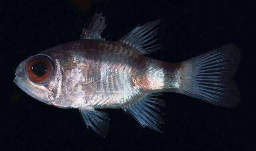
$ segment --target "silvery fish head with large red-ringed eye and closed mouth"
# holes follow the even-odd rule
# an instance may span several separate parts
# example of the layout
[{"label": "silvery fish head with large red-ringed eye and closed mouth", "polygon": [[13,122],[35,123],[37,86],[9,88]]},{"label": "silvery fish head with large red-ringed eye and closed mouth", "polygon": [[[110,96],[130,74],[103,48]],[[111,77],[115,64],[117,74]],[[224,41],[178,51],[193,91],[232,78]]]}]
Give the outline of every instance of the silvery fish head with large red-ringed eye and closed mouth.
[{"label": "silvery fish head with large red-ringed eye and closed mouth", "polygon": [[16,69],[14,83],[31,97],[56,105],[61,94],[62,75],[58,59],[48,54],[36,54],[24,60]]}]

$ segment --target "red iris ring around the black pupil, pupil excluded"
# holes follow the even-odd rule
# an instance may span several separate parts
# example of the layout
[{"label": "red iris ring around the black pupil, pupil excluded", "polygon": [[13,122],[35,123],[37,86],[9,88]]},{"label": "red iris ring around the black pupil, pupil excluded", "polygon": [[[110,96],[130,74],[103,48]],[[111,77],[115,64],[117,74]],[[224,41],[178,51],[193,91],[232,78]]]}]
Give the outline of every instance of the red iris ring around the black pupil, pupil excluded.
[{"label": "red iris ring around the black pupil, pupil excluded", "polygon": [[[37,62],[42,62],[46,66],[46,73],[43,76],[37,76],[32,71],[32,67]],[[53,76],[54,65],[52,63],[52,60],[50,60],[50,58],[48,58],[48,56],[37,55],[28,61],[27,66],[26,66],[26,71],[27,71],[26,73],[31,81],[33,81],[34,83],[37,83],[37,84],[44,84],[44,83],[47,83],[48,81],[50,81],[51,77]]]}]

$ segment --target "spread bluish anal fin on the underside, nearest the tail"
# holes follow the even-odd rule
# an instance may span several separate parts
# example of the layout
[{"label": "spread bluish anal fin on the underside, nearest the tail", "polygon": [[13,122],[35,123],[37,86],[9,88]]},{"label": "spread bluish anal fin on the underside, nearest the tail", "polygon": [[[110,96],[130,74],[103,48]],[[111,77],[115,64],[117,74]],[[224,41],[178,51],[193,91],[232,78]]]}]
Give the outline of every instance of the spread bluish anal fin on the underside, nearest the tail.
[{"label": "spread bluish anal fin on the underside, nearest the tail", "polygon": [[162,133],[159,129],[160,124],[164,124],[162,120],[163,112],[156,105],[164,106],[164,101],[154,98],[155,95],[147,95],[140,101],[124,107],[124,112],[128,112],[143,127],[149,127],[155,131]]}]

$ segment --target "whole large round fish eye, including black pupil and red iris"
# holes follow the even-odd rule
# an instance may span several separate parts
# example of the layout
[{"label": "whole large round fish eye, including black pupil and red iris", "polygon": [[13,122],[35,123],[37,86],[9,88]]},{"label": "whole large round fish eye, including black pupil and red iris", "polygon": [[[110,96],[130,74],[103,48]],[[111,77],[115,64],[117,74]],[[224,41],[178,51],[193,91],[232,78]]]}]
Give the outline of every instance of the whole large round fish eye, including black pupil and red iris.
[{"label": "whole large round fish eye, including black pupil and red iris", "polygon": [[26,64],[26,74],[34,83],[47,83],[54,76],[54,64],[48,56],[34,56]]}]

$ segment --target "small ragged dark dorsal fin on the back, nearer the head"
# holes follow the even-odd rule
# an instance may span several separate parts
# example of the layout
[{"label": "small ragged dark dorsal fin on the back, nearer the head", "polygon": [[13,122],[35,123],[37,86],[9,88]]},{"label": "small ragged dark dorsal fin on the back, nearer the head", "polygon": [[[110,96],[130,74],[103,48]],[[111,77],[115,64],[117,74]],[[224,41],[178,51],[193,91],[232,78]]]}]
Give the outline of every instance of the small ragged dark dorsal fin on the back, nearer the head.
[{"label": "small ragged dark dorsal fin on the back, nearer the head", "polygon": [[102,31],[107,26],[105,24],[105,17],[102,17],[101,14],[102,14],[102,12],[100,14],[95,13],[88,28],[86,29],[84,26],[84,29],[81,34],[81,39],[105,40],[105,38],[101,38],[101,36],[100,36]]}]

